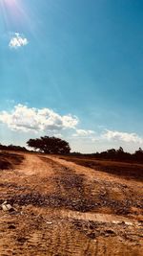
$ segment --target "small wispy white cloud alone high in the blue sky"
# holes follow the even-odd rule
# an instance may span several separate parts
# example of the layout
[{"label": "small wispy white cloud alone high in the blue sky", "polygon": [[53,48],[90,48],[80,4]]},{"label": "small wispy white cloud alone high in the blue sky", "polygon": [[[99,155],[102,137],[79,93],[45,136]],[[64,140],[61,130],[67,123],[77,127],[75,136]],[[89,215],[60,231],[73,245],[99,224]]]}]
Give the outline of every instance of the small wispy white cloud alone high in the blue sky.
[{"label": "small wispy white cloud alone high in the blue sky", "polygon": [[15,33],[10,38],[9,46],[10,48],[17,49],[22,46],[26,46],[29,43],[28,39],[24,37],[23,35],[20,35],[19,33]]}]

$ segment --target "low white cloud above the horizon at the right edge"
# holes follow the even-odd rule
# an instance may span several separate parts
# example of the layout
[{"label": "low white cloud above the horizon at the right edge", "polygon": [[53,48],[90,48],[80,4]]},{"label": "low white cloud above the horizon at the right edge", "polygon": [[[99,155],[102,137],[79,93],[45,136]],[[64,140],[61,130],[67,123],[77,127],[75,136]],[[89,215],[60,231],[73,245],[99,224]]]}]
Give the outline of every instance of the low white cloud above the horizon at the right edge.
[{"label": "low white cloud above the horizon at the right edge", "polygon": [[103,139],[113,140],[113,141],[123,141],[127,143],[143,143],[143,138],[139,137],[136,133],[120,132],[117,130],[106,131],[101,136]]}]

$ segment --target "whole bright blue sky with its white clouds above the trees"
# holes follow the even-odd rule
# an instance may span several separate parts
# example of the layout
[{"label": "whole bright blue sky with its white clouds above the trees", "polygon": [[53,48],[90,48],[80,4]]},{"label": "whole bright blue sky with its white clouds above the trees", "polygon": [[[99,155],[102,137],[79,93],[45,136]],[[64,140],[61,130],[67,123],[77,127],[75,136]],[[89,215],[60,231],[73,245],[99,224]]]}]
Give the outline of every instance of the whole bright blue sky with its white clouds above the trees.
[{"label": "whole bright blue sky with its white clouds above the trees", "polygon": [[0,143],[143,147],[143,2],[0,0]]}]

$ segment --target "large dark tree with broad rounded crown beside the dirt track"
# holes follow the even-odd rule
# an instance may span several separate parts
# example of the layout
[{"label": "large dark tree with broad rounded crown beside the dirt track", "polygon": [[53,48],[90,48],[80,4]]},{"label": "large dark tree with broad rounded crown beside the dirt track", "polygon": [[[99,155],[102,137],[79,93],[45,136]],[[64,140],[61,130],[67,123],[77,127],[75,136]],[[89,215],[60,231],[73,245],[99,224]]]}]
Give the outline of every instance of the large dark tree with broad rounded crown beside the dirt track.
[{"label": "large dark tree with broad rounded crown beside the dirt track", "polygon": [[71,148],[69,143],[65,140],[55,137],[40,137],[37,139],[30,139],[27,142],[28,146],[34,150],[43,151],[45,153],[70,153]]}]

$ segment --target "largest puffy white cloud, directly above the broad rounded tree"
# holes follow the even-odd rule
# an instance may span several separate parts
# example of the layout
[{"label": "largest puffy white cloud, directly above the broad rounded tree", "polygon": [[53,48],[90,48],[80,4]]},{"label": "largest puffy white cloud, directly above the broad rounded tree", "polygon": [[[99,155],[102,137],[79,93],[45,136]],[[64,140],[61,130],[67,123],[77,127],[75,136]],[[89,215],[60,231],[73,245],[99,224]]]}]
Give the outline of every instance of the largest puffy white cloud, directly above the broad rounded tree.
[{"label": "largest puffy white cloud, directly above the broad rounded tree", "polygon": [[78,118],[72,115],[59,115],[50,108],[30,108],[15,105],[10,112],[0,112],[0,122],[10,129],[22,131],[51,131],[75,128]]}]

